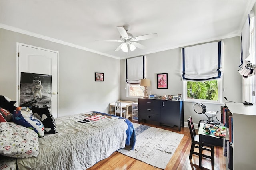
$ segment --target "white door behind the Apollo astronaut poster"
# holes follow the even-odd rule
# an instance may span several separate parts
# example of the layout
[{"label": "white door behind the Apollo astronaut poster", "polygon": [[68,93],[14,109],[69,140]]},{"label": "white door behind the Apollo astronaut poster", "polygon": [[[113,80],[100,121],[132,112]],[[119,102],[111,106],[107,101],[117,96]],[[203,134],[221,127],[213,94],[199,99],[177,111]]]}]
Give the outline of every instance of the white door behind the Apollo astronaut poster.
[{"label": "white door behind the Apollo astronaut poster", "polygon": [[[18,44],[18,83],[20,73],[37,73],[52,75],[51,112],[54,118],[58,117],[58,52],[29,45]],[[20,89],[17,103],[20,105]]]}]

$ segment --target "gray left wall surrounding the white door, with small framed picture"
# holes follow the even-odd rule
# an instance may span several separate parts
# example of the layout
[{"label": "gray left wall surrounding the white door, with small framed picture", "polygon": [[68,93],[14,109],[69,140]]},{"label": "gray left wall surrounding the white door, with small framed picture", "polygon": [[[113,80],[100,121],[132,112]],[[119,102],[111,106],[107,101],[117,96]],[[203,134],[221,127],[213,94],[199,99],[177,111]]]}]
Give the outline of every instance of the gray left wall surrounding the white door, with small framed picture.
[{"label": "gray left wall surrounding the white door, with small framed picture", "polygon": [[[60,116],[100,111],[120,98],[120,60],[74,47],[0,29],[0,95],[16,100],[16,43],[59,51]],[[94,72],[104,73],[104,82],[94,81]]]}]

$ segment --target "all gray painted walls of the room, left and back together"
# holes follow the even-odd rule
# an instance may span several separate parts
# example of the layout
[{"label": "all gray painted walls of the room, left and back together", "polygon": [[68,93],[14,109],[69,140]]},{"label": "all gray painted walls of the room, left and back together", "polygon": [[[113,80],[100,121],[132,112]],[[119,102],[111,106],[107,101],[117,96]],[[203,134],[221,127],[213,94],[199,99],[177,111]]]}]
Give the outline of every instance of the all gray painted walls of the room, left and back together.
[{"label": "all gray painted walls of the room, left and back together", "polygon": [[[24,43],[59,51],[59,113],[60,116],[100,111],[108,113],[109,103],[126,98],[125,59],[105,57],[74,47],[50,42],[40,38],[0,29],[0,94],[16,99],[16,43]],[[224,39],[223,73],[224,91],[232,101],[242,101],[242,77],[238,73],[240,37]],[[94,72],[104,73],[104,82],[94,81]],[[156,74],[168,73],[168,89],[157,89]],[[182,93],[180,48],[146,55],[146,78],[151,80],[148,92],[158,95]],[[225,102],[225,99],[223,98]],[[221,104],[223,105],[223,104]],[[184,122],[189,116],[194,123],[206,119],[193,109],[194,103],[184,102]],[[208,111],[220,110],[219,104],[206,103]]]}]

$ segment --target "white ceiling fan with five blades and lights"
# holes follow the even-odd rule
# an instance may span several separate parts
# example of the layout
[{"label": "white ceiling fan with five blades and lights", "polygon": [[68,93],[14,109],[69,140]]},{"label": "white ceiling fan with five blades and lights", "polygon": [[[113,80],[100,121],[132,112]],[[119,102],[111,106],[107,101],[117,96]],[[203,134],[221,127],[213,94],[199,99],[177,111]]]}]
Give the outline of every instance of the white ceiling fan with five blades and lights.
[{"label": "white ceiling fan with five blades and lights", "polygon": [[144,45],[137,43],[136,41],[146,40],[146,39],[154,38],[157,36],[156,33],[153,33],[153,34],[146,34],[143,36],[133,37],[132,34],[128,33],[130,26],[117,27],[117,29],[121,35],[120,40],[96,40],[96,41],[123,42],[115,49],[115,51],[119,51],[120,49],[122,49],[123,52],[127,53],[129,49],[130,51],[134,51],[136,47],[140,49],[145,48]]}]

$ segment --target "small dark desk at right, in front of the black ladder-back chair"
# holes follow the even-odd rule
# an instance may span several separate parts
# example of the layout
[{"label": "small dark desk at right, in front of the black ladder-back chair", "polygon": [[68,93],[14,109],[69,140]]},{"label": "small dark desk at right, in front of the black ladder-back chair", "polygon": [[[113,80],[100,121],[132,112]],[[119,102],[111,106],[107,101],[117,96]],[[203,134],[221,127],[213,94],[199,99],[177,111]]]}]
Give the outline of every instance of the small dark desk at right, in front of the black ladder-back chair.
[{"label": "small dark desk at right, in front of the black ladder-back chair", "polygon": [[[214,134],[207,134],[205,132],[205,125],[211,126],[207,123],[200,123],[200,127],[198,130],[199,135],[199,168],[202,168],[202,142],[207,144],[212,144],[215,146],[223,146],[223,137],[215,136]],[[212,125],[215,126],[215,125]],[[220,125],[219,125],[220,126]],[[220,126],[222,128],[222,126]]]}]

